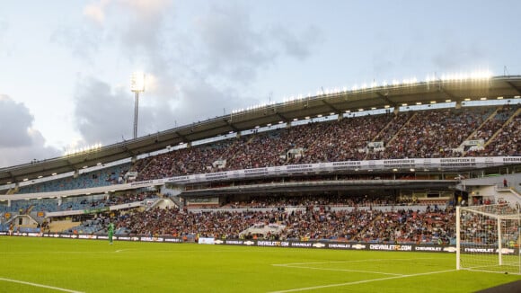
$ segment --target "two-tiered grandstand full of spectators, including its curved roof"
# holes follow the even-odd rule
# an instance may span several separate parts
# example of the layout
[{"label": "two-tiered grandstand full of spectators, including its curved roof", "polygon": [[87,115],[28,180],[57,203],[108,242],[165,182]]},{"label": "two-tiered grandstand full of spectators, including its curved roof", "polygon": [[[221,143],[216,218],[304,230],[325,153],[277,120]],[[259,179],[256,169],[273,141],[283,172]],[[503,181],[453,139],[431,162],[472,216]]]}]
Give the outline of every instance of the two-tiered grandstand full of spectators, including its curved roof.
[{"label": "two-tiered grandstand full of spectators, including its curved roof", "polygon": [[0,232],[455,244],[455,206],[521,206],[520,95],[519,75],[321,91],[6,167]]}]

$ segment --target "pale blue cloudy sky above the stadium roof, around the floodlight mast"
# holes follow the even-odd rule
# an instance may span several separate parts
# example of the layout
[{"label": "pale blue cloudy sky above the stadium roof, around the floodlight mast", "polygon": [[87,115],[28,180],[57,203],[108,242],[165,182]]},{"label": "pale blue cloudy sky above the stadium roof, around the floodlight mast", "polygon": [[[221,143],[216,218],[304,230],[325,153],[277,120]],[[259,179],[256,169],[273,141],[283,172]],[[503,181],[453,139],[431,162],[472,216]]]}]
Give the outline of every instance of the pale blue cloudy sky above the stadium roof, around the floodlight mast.
[{"label": "pale blue cloudy sky above the stadium roof, around the floodlight mast", "polygon": [[0,3],[0,168],[324,88],[521,75],[521,2]]}]

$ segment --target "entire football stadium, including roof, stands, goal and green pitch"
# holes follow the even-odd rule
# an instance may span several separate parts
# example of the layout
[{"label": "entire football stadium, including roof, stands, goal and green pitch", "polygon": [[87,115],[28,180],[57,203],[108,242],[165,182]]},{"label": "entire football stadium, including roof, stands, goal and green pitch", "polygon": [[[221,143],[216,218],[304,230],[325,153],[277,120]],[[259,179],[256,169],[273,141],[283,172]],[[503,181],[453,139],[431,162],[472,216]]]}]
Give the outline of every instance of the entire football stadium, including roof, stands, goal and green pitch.
[{"label": "entire football stadium, including roof, stands, goal and green pitch", "polygon": [[[40,247],[70,255],[52,270],[84,263],[68,283],[17,264],[13,290],[169,290],[155,271],[168,262],[187,291],[477,291],[519,280],[520,194],[521,76],[444,75],[322,90],[0,169],[0,241],[12,262]],[[151,273],[118,274],[119,287],[77,276],[146,259]],[[268,269],[244,268],[257,265]],[[221,266],[240,281],[208,272]]]}]

